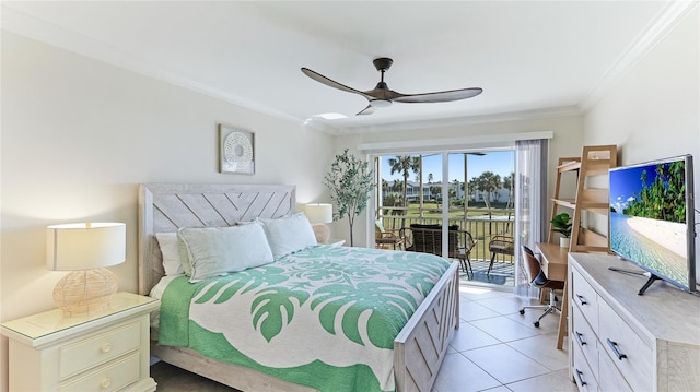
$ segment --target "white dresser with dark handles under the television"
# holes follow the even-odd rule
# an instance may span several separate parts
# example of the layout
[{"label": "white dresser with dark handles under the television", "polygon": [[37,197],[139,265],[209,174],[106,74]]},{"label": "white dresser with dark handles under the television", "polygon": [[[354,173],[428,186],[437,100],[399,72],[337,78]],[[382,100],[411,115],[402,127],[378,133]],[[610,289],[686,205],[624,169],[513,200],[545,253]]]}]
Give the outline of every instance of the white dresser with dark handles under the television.
[{"label": "white dresser with dark handles under the television", "polygon": [[569,253],[569,355],[581,391],[700,391],[700,297],[614,256]]}]

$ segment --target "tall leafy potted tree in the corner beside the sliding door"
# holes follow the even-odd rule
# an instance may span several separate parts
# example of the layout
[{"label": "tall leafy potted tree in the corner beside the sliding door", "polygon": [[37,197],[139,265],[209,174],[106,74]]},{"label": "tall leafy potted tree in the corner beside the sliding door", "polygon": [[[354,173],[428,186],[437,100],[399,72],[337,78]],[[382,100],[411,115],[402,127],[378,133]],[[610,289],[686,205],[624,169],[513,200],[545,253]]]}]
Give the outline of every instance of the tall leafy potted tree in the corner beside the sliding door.
[{"label": "tall leafy potted tree in the corner beside the sliding door", "polygon": [[350,246],[353,246],[352,226],[354,217],[368,206],[370,192],[376,186],[374,170],[368,170],[369,162],[348,154],[336,155],[330,170],[324,177],[324,186],[328,188],[330,200],[335,204],[334,221],[348,217],[350,224]]}]

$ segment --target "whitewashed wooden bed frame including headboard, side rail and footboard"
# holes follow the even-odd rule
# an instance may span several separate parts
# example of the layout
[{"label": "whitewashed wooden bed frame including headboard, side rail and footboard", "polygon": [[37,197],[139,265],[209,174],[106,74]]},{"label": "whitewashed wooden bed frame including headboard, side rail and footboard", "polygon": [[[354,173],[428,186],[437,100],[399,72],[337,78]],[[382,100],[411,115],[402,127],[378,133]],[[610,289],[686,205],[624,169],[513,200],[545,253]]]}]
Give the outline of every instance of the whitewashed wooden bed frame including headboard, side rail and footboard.
[{"label": "whitewashed wooden bed frame including headboard, side rail and footboard", "polygon": [[[148,295],[164,274],[156,233],[176,231],[185,226],[231,226],[238,221],[276,218],[295,211],[294,186],[141,185],[139,293]],[[458,263],[452,263],[394,341],[397,391],[431,391],[458,328],[459,271]],[[151,343],[151,355],[161,360],[242,391],[313,391],[253,369],[207,358],[192,349]]]}]

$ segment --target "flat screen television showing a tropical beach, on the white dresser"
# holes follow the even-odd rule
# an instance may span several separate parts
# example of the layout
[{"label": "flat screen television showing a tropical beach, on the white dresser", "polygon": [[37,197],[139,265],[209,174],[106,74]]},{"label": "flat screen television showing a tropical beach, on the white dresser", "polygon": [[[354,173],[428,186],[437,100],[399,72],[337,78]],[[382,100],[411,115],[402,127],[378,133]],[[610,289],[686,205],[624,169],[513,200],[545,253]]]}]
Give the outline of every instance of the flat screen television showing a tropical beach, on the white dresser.
[{"label": "flat screen television showing a tropical beach, on the white dresser", "polygon": [[656,280],[696,292],[692,156],[611,168],[610,250]]}]

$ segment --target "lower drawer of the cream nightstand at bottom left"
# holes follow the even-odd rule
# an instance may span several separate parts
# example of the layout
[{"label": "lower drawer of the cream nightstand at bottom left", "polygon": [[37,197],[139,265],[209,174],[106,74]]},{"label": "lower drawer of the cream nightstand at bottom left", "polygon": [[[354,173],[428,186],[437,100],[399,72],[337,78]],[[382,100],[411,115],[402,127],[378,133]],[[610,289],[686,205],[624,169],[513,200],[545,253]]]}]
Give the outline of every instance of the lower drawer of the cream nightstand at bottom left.
[{"label": "lower drawer of the cream nightstand at bottom left", "polygon": [[96,371],[80,376],[74,381],[61,384],[61,392],[118,391],[141,378],[139,354],[109,364]]}]

